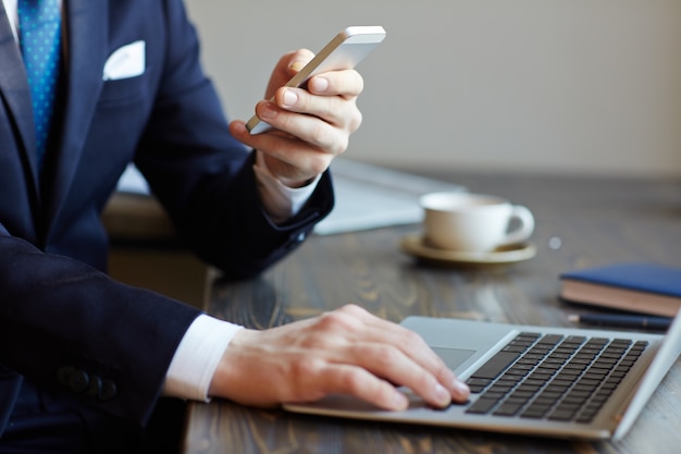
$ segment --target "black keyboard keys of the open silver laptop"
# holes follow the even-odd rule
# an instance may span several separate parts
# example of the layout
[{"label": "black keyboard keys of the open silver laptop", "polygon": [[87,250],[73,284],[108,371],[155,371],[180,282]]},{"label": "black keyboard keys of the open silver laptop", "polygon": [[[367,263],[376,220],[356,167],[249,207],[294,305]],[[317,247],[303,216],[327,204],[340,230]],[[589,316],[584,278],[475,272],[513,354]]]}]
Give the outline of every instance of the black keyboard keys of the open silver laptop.
[{"label": "black keyboard keys of the open silver laptop", "polygon": [[467,380],[481,395],[466,413],[590,422],[646,346],[522,332]]}]

